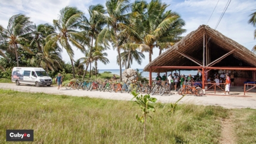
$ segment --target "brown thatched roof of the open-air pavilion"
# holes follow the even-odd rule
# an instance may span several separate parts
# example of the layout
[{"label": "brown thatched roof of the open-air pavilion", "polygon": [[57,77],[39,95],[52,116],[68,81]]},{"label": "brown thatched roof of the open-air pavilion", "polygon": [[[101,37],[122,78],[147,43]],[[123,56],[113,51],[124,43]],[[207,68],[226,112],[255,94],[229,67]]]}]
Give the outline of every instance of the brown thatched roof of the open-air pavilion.
[{"label": "brown thatched roof of the open-air pavilion", "polygon": [[[183,37],[183,39],[174,44],[173,47],[148,63],[143,71],[149,71],[149,67],[151,66],[199,66],[184,55],[193,57],[193,59],[198,62],[202,62],[204,34],[205,43],[208,41],[207,47],[209,52],[209,59],[205,62],[206,64],[213,62],[233,50],[231,55],[219,60],[212,66],[238,68],[242,65],[243,68],[256,68],[256,55],[254,53],[236,41],[224,36],[217,30],[210,28],[208,25],[200,25],[197,30]],[[173,70],[174,69],[153,69],[152,72]]]}]

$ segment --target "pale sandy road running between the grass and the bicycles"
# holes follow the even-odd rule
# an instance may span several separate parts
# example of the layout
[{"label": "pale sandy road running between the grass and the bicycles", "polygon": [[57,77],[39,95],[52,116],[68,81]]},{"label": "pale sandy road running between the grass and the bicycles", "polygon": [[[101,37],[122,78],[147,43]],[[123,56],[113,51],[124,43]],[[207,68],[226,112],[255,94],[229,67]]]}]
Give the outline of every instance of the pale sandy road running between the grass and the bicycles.
[{"label": "pale sandy road running between the grass and the bicycles", "polygon": [[[35,85],[15,85],[0,83],[2,89],[13,89],[23,92],[44,92],[47,94],[70,95],[77,97],[95,97],[112,100],[131,100],[133,95],[120,92],[100,92],[100,91],[83,91],[82,89],[66,89],[63,87],[58,91],[57,87],[35,87]],[[159,103],[175,103],[181,95],[172,91],[169,95],[151,95],[157,98]],[[203,95],[196,97],[194,95],[186,95],[179,103],[193,103],[197,105],[220,105],[225,108],[253,108],[256,109],[256,94],[253,96],[232,96],[232,95]]]}]

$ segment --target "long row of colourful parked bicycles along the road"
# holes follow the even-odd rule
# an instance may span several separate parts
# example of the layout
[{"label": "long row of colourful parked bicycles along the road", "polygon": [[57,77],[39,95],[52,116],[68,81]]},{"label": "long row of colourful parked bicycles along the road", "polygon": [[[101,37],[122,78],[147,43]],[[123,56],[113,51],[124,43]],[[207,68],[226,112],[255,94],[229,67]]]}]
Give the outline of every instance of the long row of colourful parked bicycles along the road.
[{"label": "long row of colourful parked bicycles along the road", "polygon": [[[166,81],[154,81],[152,85],[148,85],[145,82],[136,82],[136,83],[124,83],[124,82],[111,82],[105,80],[104,82],[101,81],[79,81],[76,80],[69,82],[65,85],[67,89],[83,89],[87,91],[109,91],[109,92],[131,92],[136,91],[141,94],[170,94],[171,88],[168,82]],[[189,82],[186,82],[182,88],[177,91],[178,94],[195,94],[196,96],[202,95],[202,88],[192,86]]]}]

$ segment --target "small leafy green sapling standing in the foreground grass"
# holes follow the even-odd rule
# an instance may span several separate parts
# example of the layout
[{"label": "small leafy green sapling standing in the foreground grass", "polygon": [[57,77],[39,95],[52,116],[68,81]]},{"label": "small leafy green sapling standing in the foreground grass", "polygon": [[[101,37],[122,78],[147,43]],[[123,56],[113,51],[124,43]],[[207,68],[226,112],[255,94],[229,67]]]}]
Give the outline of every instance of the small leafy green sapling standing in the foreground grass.
[{"label": "small leafy green sapling standing in the foreground grass", "polygon": [[[142,109],[142,116],[139,117],[138,114],[136,114],[136,119],[143,123],[143,130],[144,130],[144,142],[146,143],[146,117],[148,116],[149,112],[155,112],[155,108],[149,104],[149,102],[155,103],[157,101],[157,98],[150,97],[149,94],[146,95],[139,95],[139,93],[136,93],[136,91],[132,91],[133,98],[136,98],[136,103],[141,107]],[[152,117],[151,117],[152,118]]]}]

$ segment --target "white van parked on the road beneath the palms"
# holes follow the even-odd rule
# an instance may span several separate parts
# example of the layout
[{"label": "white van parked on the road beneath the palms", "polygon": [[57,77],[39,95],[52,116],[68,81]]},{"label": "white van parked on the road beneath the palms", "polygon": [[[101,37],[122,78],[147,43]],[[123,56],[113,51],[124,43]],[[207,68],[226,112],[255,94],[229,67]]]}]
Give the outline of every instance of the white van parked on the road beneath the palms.
[{"label": "white van parked on the road beneath the palms", "polygon": [[16,85],[30,84],[40,87],[52,84],[52,78],[45,72],[43,68],[26,68],[26,67],[14,67],[11,73],[11,81]]}]

